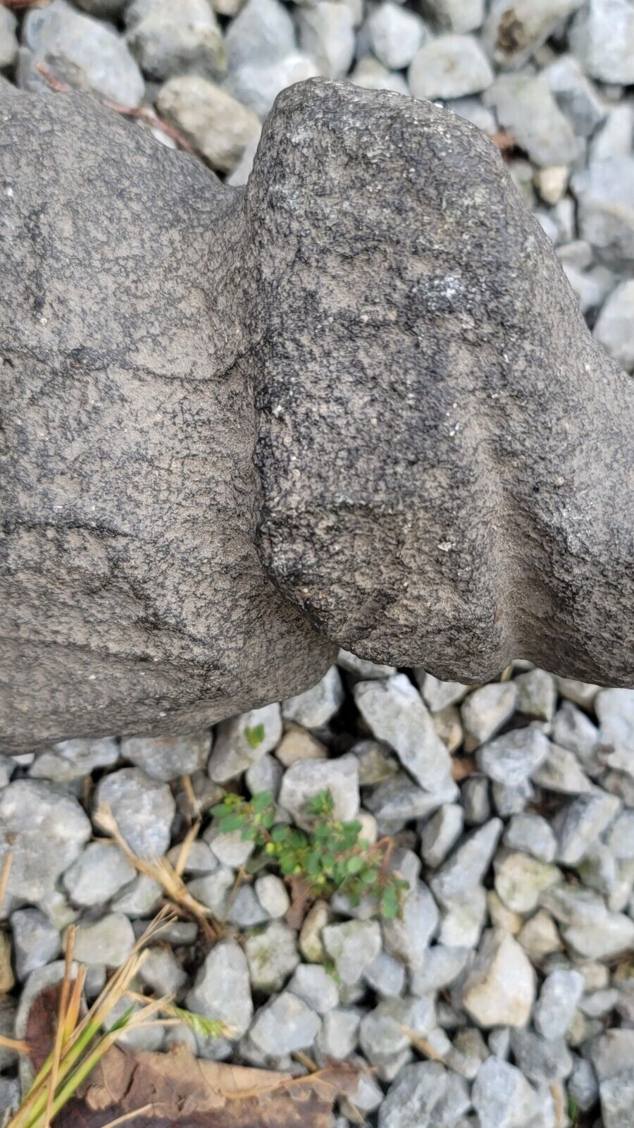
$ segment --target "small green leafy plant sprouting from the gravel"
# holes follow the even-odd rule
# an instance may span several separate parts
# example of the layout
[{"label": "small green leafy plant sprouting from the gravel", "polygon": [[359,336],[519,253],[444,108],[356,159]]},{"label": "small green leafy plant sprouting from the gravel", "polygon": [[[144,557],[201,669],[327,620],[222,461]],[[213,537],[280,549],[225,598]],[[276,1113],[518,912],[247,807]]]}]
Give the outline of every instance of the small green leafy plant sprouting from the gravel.
[{"label": "small green leafy plant sprouting from the gravel", "polygon": [[381,838],[370,846],[360,838],[360,822],[335,818],[335,804],[328,791],[322,791],[306,805],[312,829],[276,821],[275,800],[271,792],[258,792],[250,800],[227,794],[212,814],[221,831],[240,830],[255,843],[288,880],[303,880],[311,896],[344,893],[352,905],[370,896],[386,920],[402,909],[407,882],[389,870],[391,839]]}]

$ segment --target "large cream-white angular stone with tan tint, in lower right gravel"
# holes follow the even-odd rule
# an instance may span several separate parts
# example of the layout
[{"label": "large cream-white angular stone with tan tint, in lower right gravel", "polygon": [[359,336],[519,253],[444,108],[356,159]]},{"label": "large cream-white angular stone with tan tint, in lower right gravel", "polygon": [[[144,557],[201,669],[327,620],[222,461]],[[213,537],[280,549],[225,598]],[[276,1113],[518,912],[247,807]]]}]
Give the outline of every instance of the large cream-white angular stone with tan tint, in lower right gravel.
[{"label": "large cream-white angular stone with tan tint, in lower right gravel", "polygon": [[486,932],[463,988],[463,1006],[479,1025],[525,1026],[535,1002],[535,971],[518,942]]}]

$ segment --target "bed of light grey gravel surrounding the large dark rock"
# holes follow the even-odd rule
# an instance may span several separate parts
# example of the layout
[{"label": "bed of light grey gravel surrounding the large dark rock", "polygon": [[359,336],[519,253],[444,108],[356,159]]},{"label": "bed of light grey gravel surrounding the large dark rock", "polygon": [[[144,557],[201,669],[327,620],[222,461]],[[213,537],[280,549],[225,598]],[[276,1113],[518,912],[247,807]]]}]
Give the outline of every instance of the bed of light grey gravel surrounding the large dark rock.
[{"label": "bed of light grey gravel surrounding the large dark rock", "polygon": [[[634,372],[633,0],[52,0],[0,7],[0,69],[51,97],[56,80],[146,107],[232,185],[296,81],[434,99],[501,148],[595,336]],[[175,146],[160,123],[130,122],[148,127]],[[527,662],[468,688],[342,652],[306,694],[211,731],[0,757],[0,846],[14,852],[0,1032],[24,1034],[70,923],[90,995],[125,959],[161,891],[96,840],[95,812],[108,803],[135,854],[174,861],[183,777],[203,813],[188,888],[227,929],[211,948],[174,925],[138,988],[231,1037],[152,1029],[130,1036],[137,1047],[186,1041],[293,1072],[302,1055],[370,1065],[334,1128],[360,1114],[379,1128],[633,1128],[634,689]],[[335,898],[291,927],[266,866],[236,892],[249,846],[210,818],[224,790],[271,790],[301,825],[325,787],[368,840],[394,836],[402,919]],[[2,1113],[19,1094],[5,1048],[0,1070]]]}]

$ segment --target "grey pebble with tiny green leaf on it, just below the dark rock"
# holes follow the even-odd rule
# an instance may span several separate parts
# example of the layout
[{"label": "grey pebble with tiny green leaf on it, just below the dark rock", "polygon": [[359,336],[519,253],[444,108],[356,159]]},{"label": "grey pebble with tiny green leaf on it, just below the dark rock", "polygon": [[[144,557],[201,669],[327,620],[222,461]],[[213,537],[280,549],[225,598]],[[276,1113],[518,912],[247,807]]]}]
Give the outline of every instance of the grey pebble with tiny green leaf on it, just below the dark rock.
[{"label": "grey pebble with tiny green leaf on it, just below the dark rock", "polygon": [[247,772],[272,751],[282,737],[279,705],[240,713],[218,725],[208,772],[214,783],[227,783]]}]

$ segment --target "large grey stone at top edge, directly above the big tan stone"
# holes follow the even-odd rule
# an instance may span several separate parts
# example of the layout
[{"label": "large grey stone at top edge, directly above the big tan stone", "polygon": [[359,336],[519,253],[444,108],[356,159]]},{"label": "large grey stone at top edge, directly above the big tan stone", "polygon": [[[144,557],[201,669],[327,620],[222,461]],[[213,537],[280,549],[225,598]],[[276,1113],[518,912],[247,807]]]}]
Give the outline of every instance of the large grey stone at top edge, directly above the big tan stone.
[{"label": "large grey stone at top edge, directly above the big tan stone", "polygon": [[127,45],[148,78],[222,78],[227,70],[222,33],[206,0],[132,0],[125,24]]}]

